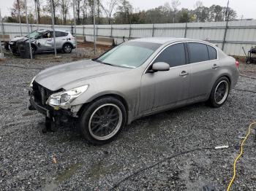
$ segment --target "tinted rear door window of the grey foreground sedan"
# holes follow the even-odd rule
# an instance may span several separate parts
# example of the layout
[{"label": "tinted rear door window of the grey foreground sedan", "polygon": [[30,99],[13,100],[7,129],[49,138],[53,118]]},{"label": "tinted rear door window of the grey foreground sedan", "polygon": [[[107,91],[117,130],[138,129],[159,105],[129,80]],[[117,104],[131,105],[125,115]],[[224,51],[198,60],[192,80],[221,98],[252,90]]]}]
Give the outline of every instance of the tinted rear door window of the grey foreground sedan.
[{"label": "tinted rear door window of the grey foreground sedan", "polygon": [[197,63],[209,60],[206,44],[189,42],[189,63]]}]

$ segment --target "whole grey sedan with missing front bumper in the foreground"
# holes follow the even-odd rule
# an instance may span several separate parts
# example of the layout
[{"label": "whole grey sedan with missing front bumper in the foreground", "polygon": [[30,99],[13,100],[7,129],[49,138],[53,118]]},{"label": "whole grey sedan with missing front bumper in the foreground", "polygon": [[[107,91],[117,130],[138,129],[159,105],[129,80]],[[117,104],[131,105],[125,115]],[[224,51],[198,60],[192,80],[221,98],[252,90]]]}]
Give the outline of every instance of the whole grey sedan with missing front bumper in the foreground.
[{"label": "whole grey sedan with missing front bumper in the foreground", "polygon": [[31,82],[30,109],[47,122],[76,120],[91,144],[105,144],[140,117],[207,101],[225,104],[238,62],[195,39],[135,39],[99,58],[54,66]]}]

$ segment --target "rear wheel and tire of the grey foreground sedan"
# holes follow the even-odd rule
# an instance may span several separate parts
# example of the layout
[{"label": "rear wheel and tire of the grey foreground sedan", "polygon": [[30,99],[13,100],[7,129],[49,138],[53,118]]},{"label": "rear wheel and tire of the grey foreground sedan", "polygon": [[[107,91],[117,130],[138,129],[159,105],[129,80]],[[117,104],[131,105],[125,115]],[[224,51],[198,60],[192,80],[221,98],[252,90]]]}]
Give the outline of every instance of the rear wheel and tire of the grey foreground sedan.
[{"label": "rear wheel and tire of the grey foreground sedan", "polygon": [[219,108],[225,104],[229,93],[230,81],[227,77],[221,77],[214,83],[208,103],[214,108]]}]

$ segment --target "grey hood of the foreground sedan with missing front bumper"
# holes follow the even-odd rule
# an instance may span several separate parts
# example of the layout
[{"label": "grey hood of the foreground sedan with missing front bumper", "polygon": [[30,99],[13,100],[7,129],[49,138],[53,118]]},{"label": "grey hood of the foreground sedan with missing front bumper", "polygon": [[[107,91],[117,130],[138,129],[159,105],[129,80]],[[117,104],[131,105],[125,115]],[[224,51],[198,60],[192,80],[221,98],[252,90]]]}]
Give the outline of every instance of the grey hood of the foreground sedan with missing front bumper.
[{"label": "grey hood of the foreground sedan with missing front bumper", "polygon": [[116,74],[127,70],[128,69],[109,66],[91,60],[82,60],[45,69],[37,74],[35,82],[49,90],[56,91],[61,88],[67,90],[65,87],[70,87],[70,85],[72,88],[78,87],[76,83],[85,81],[86,79]]}]

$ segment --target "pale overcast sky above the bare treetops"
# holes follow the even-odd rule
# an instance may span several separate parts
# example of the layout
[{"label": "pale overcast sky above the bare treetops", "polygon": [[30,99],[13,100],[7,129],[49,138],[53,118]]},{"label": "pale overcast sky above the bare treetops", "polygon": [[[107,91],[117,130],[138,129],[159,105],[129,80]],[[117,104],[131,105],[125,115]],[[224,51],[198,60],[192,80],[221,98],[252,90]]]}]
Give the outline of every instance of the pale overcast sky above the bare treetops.
[{"label": "pale overcast sky above the bare treetops", "polygon": [[[10,14],[10,7],[15,0],[0,0],[0,9],[1,15],[7,16]],[[28,5],[34,7],[34,0],[27,0]],[[165,4],[165,2],[171,2],[171,0],[129,0],[132,3],[132,6],[139,9],[151,9]],[[194,9],[195,2],[197,0],[180,0],[182,7],[188,9]],[[212,4],[219,4],[221,6],[227,5],[227,0],[203,0],[203,5],[210,7]],[[230,0],[230,7],[235,9],[238,18],[241,18],[241,15],[244,15],[246,18],[255,18],[256,19],[256,0]]]}]

